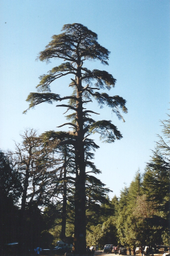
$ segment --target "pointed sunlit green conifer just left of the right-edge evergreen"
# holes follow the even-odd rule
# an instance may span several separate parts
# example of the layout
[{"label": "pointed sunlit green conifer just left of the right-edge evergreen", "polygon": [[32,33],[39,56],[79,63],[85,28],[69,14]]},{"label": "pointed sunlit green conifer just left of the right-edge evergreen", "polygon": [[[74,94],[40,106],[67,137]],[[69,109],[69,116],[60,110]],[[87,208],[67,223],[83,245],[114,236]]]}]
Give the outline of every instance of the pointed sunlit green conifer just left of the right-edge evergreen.
[{"label": "pointed sunlit green conifer just left of the right-edge evergreen", "polygon": [[137,207],[137,200],[142,193],[141,174],[138,171],[129,189],[122,191],[118,207],[118,236],[120,244],[139,246],[142,244],[141,217],[137,218],[134,214]]}]

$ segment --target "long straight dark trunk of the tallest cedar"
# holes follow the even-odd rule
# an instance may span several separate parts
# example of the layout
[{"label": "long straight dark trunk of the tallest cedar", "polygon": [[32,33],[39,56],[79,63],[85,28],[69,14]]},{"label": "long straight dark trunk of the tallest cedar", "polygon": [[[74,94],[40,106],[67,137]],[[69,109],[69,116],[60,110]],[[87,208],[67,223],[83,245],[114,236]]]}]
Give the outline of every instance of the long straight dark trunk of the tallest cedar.
[{"label": "long straight dark trunk of the tallest cedar", "polygon": [[84,163],[84,121],[83,121],[83,106],[82,106],[82,82],[81,68],[78,65],[77,73],[77,140],[75,146],[75,163],[77,163],[75,177],[75,225],[74,225],[74,248],[75,253],[86,253],[86,174]]}]

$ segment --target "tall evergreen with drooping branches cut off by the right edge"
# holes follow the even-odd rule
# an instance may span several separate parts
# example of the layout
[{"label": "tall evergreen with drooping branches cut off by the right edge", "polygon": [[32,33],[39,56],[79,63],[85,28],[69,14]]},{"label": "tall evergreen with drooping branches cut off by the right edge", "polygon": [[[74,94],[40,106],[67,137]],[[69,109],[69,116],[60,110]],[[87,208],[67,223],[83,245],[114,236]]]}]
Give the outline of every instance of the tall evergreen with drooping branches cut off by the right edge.
[{"label": "tall evergreen with drooping branches cut off by the right edge", "polygon": [[143,177],[143,187],[147,199],[152,202],[154,214],[148,218],[148,223],[159,244],[168,244],[170,238],[170,120],[162,121],[163,136],[158,135],[156,149],[146,166]]}]

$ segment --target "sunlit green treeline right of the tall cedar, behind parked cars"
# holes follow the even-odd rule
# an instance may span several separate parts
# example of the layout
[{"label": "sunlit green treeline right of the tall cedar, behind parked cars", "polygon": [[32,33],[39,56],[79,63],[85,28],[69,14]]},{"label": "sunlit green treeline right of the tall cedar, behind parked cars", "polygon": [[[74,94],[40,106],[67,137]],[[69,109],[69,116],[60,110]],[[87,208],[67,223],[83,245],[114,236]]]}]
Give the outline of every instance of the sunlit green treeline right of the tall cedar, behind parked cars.
[{"label": "sunlit green treeline right of the tall cedar, behind parked cars", "polygon": [[112,199],[112,215],[92,227],[88,243],[141,246],[170,244],[170,121],[161,122],[163,137],[141,175]]}]

